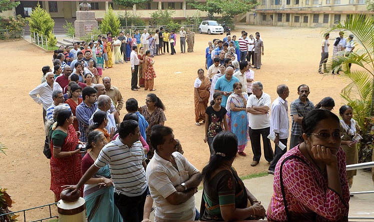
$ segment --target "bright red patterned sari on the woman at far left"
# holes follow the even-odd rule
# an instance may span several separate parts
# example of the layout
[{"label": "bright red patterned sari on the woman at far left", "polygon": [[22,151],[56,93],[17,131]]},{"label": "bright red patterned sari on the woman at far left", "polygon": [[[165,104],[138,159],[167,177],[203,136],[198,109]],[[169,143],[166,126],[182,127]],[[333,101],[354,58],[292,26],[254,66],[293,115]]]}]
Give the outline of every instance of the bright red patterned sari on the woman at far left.
[{"label": "bright red patterned sari on the woman at far left", "polygon": [[[68,134],[61,130],[54,130],[51,139],[51,186],[50,189],[55,193],[56,202],[60,200],[60,194],[64,190],[63,185],[77,184],[82,177],[81,170],[81,153],[76,153],[70,156],[56,158],[53,156],[53,147],[60,145],[55,144],[54,141],[64,139],[61,145],[62,152],[74,151],[78,145],[78,136],[73,124],[69,125]],[[83,196],[83,189],[80,189],[81,196]]]}]

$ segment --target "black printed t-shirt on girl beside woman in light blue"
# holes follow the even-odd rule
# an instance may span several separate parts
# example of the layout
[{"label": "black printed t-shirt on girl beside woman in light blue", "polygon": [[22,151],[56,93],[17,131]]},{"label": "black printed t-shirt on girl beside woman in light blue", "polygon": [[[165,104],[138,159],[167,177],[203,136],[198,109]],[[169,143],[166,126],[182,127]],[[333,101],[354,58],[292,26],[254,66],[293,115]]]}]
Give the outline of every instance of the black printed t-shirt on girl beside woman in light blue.
[{"label": "black printed t-shirt on girl beside woman in light blue", "polygon": [[221,127],[223,117],[225,116],[227,110],[226,108],[220,106],[219,111],[214,110],[213,106],[208,106],[205,110],[205,113],[208,114],[208,137],[213,138],[223,129]]}]

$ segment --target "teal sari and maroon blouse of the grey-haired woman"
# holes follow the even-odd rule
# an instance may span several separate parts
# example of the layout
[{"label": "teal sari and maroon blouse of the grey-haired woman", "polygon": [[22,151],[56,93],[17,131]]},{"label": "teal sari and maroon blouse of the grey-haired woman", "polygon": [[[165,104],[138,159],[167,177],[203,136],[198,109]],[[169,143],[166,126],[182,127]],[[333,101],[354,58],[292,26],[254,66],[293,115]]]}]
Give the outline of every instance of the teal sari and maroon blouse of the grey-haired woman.
[{"label": "teal sari and maroon blouse of the grey-haired woman", "polygon": [[[91,166],[95,160],[89,154],[86,154],[82,159],[82,172],[83,166]],[[94,177],[110,178],[109,165],[101,167]],[[99,184],[85,184],[83,197],[86,200],[86,210],[88,221],[113,221],[122,222],[122,216],[114,204],[114,187],[101,186]]]}]

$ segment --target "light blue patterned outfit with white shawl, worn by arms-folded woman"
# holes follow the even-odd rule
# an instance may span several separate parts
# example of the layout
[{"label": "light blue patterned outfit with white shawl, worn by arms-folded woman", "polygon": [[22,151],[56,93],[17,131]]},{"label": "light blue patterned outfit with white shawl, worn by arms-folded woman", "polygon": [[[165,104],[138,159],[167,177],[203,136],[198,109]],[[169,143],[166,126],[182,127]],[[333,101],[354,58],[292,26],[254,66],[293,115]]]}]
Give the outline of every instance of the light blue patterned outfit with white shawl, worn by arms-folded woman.
[{"label": "light blue patterned outfit with white shawl, worn by arms-folded woman", "polygon": [[[245,100],[248,100],[248,94],[242,93]],[[245,110],[233,111],[230,108],[230,103],[234,103],[235,107],[244,107],[244,100],[237,94],[232,93],[227,98],[227,126],[230,132],[233,132],[238,137],[238,152],[244,151],[248,141],[248,118]]]}]

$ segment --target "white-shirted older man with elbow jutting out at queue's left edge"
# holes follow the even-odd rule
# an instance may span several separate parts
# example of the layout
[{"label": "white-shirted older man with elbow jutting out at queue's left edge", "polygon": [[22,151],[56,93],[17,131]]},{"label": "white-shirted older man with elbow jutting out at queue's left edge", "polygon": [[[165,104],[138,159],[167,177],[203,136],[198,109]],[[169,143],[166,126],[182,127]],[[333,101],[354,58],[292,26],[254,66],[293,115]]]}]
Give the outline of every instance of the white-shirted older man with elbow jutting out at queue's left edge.
[{"label": "white-shirted older man with elbow jutting out at queue's left edge", "polygon": [[47,72],[46,82],[41,83],[29,92],[29,95],[34,99],[35,102],[38,104],[43,104],[43,122],[46,122],[47,109],[53,102],[53,90],[62,90],[59,83],[54,81],[54,76],[55,74],[53,72]]}]

